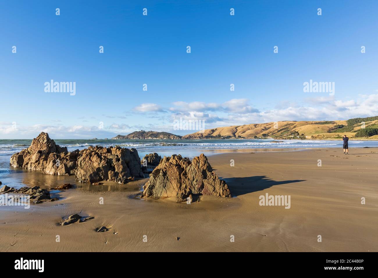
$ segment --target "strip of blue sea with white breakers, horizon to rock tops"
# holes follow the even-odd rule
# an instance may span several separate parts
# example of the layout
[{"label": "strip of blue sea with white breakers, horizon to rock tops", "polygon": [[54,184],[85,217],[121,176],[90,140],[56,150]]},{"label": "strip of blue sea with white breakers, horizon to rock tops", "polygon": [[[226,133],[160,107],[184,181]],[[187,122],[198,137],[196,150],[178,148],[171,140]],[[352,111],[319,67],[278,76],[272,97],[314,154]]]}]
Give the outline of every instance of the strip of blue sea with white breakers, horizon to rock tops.
[{"label": "strip of blue sea with white breakers, horizon to rock tops", "polygon": [[[279,143],[276,143],[280,141]],[[164,155],[189,154],[194,157],[201,150],[222,149],[277,149],[277,148],[341,148],[342,140],[273,140],[273,139],[216,139],[216,140],[83,140],[64,139],[55,143],[67,147],[68,151],[84,149],[88,146],[120,146],[136,148],[139,156],[150,152],[162,152]],[[0,140],[0,155],[14,154],[30,146],[31,140]],[[378,140],[350,140],[350,148],[378,147]]]}]

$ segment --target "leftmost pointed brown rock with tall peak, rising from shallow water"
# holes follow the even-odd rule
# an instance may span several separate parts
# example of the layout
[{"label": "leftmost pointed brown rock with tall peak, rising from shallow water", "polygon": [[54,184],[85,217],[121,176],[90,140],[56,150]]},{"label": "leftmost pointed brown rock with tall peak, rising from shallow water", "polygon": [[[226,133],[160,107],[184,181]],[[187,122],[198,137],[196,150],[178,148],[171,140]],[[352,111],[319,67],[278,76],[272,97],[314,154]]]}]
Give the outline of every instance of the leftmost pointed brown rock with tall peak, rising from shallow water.
[{"label": "leftmost pointed brown rock with tall peak, rising from shallow water", "polygon": [[27,149],[12,155],[10,165],[28,170],[42,171],[50,175],[71,175],[76,168],[79,151],[68,152],[51,140],[47,133],[41,132]]}]

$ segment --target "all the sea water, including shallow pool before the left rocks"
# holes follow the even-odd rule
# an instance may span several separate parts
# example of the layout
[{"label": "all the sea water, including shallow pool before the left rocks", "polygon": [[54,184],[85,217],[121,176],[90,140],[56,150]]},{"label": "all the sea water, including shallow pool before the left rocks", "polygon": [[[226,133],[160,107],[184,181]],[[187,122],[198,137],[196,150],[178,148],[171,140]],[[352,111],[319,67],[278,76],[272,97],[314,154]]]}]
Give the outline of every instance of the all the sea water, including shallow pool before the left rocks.
[{"label": "all the sea water, including shallow pool before the left rocks", "polygon": [[[279,143],[274,142],[279,141]],[[248,149],[258,151],[296,151],[308,148],[340,148],[342,140],[246,140],[246,139],[217,139],[217,140],[55,140],[56,144],[66,146],[68,151],[85,149],[89,146],[120,146],[122,148],[136,148],[139,157],[157,152],[161,157],[172,154],[181,154],[192,158],[201,153],[205,155],[222,152],[243,151]],[[0,181],[8,186],[20,187],[23,185],[55,184],[63,182],[66,177],[42,175],[40,173],[17,169],[9,166],[11,155],[30,146],[31,140],[0,140]],[[350,140],[349,149],[378,147],[377,141]],[[49,177],[46,177],[49,176]],[[39,183],[36,183],[39,182]]]}]

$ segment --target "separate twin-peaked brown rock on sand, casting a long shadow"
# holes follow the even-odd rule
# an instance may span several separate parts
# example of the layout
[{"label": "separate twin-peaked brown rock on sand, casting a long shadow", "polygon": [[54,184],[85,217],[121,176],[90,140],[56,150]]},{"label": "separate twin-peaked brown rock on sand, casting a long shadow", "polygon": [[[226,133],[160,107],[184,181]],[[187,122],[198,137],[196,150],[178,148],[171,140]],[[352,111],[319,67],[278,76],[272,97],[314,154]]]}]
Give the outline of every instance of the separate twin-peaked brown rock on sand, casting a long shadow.
[{"label": "separate twin-peaked brown rock on sand, casting a long shadow", "polygon": [[204,154],[192,162],[181,155],[164,157],[143,189],[143,197],[156,199],[178,196],[185,200],[191,194],[231,196],[226,182],[213,172]]}]

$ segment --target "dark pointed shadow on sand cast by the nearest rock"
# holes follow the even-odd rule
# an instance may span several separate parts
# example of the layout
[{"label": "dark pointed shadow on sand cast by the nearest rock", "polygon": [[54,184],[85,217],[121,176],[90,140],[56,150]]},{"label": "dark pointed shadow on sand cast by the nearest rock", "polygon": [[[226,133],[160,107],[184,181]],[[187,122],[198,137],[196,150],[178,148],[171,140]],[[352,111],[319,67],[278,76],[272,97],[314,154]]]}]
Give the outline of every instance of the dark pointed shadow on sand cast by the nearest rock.
[{"label": "dark pointed shadow on sand cast by the nearest rock", "polygon": [[239,196],[247,193],[270,188],[273,185],[281,185],[293,182],[303,182],[304,180],[283,180],[277,182],[276,180],[269,179],[265,175],[259,175],[254,177],[240,177],[240,178],[228,178],[223,179],[228,185],[232,196]]}]

